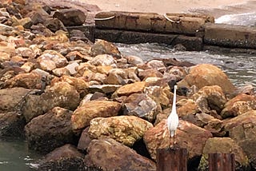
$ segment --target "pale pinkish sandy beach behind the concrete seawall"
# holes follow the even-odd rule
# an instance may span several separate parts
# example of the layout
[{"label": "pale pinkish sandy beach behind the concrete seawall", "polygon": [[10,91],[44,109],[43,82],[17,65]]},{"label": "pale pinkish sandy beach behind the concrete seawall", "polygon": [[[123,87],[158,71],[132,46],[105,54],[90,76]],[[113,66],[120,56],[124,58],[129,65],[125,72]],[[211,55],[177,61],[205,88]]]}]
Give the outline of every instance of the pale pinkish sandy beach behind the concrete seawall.
[{"label": "pale pinkish sandy beach behind the concrete seawall", "polygon": [[246,0],[81,0],[98,6],[102,11],[122,10],[130,12],[208,13],[214,17],[254,11],[256,1]]}]

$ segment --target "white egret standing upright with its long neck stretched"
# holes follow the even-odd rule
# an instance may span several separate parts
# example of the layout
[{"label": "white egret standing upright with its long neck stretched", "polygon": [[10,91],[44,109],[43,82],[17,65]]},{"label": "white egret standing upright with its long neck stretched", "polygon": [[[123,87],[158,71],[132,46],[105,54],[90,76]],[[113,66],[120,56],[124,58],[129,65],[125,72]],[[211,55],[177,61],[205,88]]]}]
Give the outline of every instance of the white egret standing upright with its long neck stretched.
[{"label": "white egret standing upright with its long neck stretched", "polygon": [[[175,137],[176,129],[178,128],[178,114],[176,111],[176,89],[178,88],[177,85],[174,85],[174,100],[173,100],[173,106],[171,109],[171,113],[169,117],[167,118],[167,127],[170,132],[170,138]],[[175,138],[174,138],[175,142]]]}]

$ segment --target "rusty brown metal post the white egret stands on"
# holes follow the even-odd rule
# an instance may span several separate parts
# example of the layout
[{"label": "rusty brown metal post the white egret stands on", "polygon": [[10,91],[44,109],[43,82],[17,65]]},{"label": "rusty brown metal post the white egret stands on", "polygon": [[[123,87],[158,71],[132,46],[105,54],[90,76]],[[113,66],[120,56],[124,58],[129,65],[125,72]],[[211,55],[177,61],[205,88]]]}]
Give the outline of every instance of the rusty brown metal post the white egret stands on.
[{"label": "rusty brown metal post the white egret stands on", "polygon": [[186,171],[186,149],[157,149],[157,171]]}]

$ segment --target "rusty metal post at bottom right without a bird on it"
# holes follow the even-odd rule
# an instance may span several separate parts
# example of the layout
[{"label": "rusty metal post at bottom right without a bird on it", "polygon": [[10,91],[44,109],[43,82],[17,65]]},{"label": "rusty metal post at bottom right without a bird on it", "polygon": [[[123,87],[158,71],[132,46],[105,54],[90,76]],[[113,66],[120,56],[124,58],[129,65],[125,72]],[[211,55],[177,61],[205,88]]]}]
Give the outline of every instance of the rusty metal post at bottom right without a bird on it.
[{"label": "rusty metal post at bottom right without a bird on it", "polygon": [[234,171],[234,153],[209,153],[209,171]]}]

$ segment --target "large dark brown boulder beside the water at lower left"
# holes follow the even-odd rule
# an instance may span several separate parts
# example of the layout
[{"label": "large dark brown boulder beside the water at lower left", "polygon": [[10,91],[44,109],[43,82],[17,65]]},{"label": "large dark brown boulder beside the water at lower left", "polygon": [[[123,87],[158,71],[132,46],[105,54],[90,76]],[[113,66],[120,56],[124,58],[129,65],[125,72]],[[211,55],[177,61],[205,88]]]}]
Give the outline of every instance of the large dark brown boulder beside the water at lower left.
[{"label": "large dark brown boulder beside the water at lower left", "polygon": [[49,112],[34,117],[25,127],[29,148],[49,153],[66,143],[74,144],[71,115],[72,111],[68,109],[54,107]]}]

